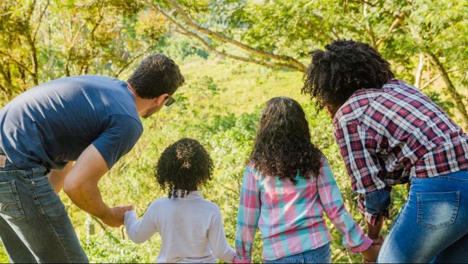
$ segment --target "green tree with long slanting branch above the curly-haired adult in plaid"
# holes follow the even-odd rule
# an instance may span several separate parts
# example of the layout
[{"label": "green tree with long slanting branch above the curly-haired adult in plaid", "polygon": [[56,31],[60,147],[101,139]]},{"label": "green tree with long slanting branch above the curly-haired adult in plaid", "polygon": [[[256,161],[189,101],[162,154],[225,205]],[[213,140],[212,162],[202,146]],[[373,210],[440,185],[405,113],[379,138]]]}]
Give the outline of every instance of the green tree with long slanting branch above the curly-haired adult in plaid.
[{"label": "green tree with long slanting branch above the curly-haired adult in plaid", "polygon": [[141,1],[200,48],[266,67],[303,72],[307,52],[333,39],[368,42],[417,87],[423,71],[437,72],[423,87],[442,77],[468,122],[466,98],[456,88],[467,84],[468,39],[460,38],[468,30],[467,0]]}]

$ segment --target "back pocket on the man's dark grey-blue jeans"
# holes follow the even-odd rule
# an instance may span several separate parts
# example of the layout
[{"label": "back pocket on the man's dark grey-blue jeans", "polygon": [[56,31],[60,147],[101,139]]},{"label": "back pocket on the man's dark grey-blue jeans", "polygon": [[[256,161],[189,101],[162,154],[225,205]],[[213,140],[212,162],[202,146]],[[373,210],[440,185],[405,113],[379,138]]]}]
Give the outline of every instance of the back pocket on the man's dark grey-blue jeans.
[{"label": "back pocket on the man's dark grey-blue jeans", "polygon": [[26,217],[14,181],[0,183],[0,215],[11,223]]}]

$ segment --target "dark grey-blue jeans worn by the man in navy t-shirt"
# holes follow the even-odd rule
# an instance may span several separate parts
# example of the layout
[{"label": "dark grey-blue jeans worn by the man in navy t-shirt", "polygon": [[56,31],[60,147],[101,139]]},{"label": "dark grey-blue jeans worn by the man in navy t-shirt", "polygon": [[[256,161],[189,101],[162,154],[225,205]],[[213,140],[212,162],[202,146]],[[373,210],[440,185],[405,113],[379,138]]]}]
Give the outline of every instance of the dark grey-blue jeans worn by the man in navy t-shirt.
[{"label": "dark grey-blue jeans worn by the man in navy t-shirt", "polygon": [[0,168],[0,238],[12,263],[88,263],[45,167]]}]

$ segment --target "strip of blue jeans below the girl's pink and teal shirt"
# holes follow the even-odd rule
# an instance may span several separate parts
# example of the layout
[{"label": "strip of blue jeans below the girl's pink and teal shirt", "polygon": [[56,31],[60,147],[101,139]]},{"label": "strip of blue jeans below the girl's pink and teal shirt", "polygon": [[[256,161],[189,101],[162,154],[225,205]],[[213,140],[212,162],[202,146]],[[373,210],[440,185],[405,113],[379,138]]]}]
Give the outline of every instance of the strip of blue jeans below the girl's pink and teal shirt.
[{"label": "strip of blue jeans below the girl's pink and teal shirt", "polygon": [[330,243],[313,250],[263,263],[331,263]]}]

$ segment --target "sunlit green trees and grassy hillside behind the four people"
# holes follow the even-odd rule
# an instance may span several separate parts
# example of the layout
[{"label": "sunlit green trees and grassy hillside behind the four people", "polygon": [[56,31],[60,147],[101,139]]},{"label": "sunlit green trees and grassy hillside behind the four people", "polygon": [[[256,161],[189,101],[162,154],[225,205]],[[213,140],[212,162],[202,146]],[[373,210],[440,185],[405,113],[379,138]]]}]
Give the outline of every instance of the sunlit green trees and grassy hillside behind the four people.
[{"label": "sunlit green trees and grassy hillside behind the four people", "polygon": [[[101,181],[108,205],[131,203],[143,215],[165,195],[152,177],[159,153],[181,137],[195,138],[216,164],[203,195],[221,208],[234,245],[240,183],[262,106],[289,96],[304,107],[313,142],[328,157],[348,209],[365,226],[331,120],[300,94],[307,53],[337,38],[373,45],[398,78],[467,129],[468,0],[0,0],[0,107],[64,76],[125,80],[144,56],[163,53],[180,65],[186,84],[175,105],[144,120],[140,142]],[[395,218],[406,190],[392,193]],[[133,244],[123,227],[105,227],[65,194],[61,198],[91,262],[154,262],[158,235]],[[333,262],[361,262],[342,247],[336,228],[331,231]],[[255,263],[261,262],[259,238]],[[0,263],[8,263],[1,246]]]}]

